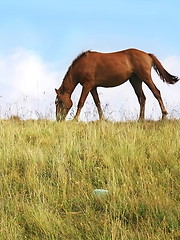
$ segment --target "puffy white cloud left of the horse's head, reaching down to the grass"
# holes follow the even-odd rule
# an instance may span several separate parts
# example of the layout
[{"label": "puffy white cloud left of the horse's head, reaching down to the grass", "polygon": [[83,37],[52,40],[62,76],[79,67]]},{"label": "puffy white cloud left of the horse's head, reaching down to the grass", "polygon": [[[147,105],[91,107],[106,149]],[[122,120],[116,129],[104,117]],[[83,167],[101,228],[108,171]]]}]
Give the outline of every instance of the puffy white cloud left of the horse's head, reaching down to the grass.
[{"label": "puffy white cloud left of the horse's head, reaching down to the grass", "polygon": [[48,114],[59,75],[33,51],[18,48],[0,57],[1,115],[29,118]]}]

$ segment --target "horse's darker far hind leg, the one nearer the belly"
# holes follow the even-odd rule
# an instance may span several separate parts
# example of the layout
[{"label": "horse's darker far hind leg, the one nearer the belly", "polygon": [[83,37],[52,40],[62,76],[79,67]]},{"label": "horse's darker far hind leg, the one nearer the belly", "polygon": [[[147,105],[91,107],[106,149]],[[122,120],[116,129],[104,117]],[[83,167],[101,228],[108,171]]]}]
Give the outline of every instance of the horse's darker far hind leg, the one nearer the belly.
[{"label": "horse's darker far hind leg, the one nearer the belly", "polygon": [[137,98],[138,98],[138,101],[140,104],[139,120],[144,120],[146,97],[145,97],[143,89],[142,89],[142,81],[136,75],[133,75],[129,79],[129,81],[130,81],[132,87],[134,88],[134,91],[137,95]]}]

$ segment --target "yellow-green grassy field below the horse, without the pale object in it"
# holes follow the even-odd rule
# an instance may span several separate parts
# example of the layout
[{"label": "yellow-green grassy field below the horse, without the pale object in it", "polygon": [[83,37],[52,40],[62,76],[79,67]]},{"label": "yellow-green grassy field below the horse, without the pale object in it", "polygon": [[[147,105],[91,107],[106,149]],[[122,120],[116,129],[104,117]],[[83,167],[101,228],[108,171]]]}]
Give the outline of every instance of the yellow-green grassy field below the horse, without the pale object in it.
[{"label": "yellow-green grassy field below the horse, without the pale object in it", "polygon": [[178,120],[1,120],[0,239],[179,239],[179,159]]}]

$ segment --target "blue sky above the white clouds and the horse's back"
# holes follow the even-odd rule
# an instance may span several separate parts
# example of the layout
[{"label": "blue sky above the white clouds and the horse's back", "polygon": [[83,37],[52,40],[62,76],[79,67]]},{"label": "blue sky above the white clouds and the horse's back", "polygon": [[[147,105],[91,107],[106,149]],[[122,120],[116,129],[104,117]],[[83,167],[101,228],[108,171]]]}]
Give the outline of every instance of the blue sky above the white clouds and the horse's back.
[{"label": "blue sky above the white clouds and the horse's back", "polygon": [[0,50],[22,46],[54,61],[137,47],[164,57],[180,52],[179,9],[178,0],[1,0]]}]

